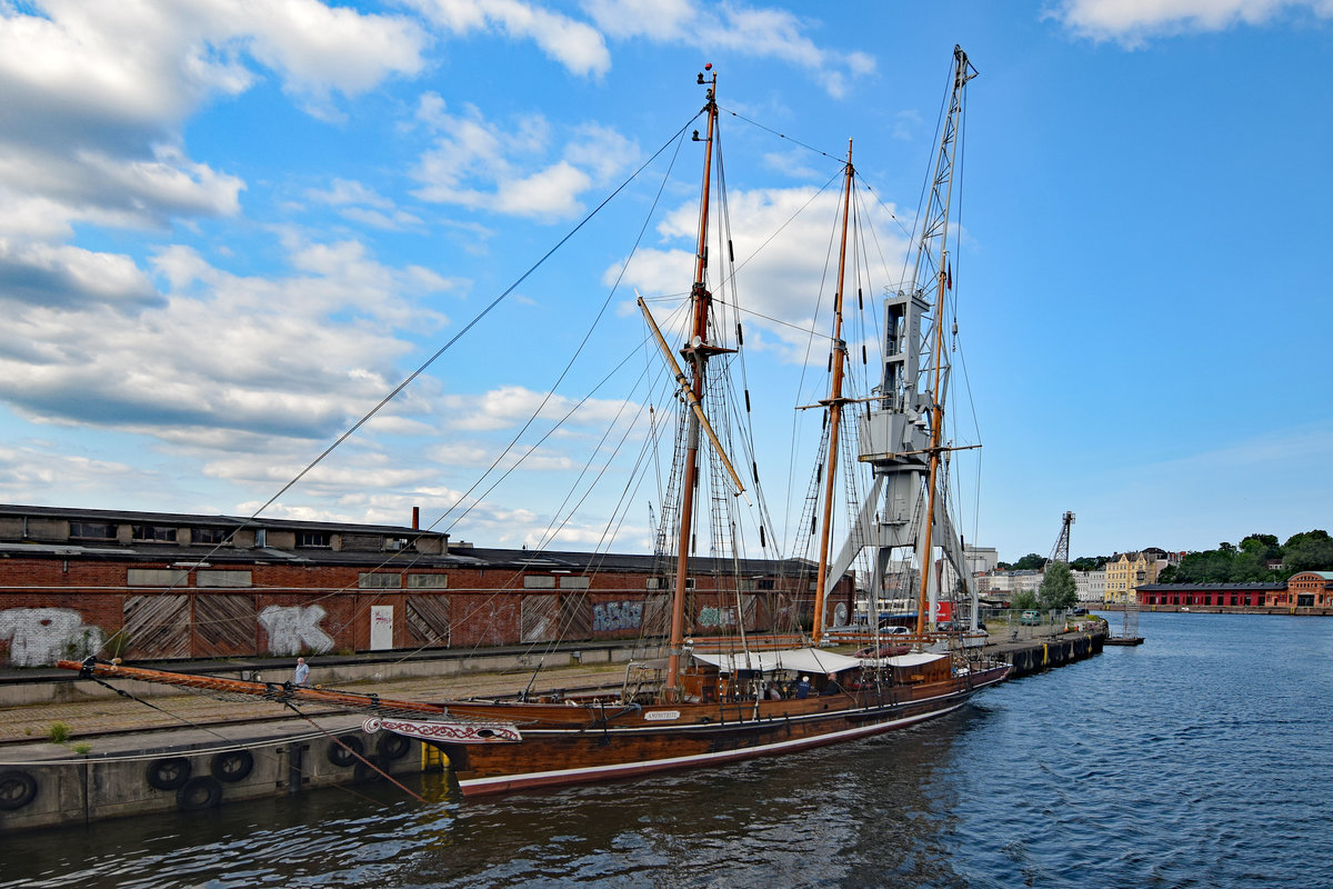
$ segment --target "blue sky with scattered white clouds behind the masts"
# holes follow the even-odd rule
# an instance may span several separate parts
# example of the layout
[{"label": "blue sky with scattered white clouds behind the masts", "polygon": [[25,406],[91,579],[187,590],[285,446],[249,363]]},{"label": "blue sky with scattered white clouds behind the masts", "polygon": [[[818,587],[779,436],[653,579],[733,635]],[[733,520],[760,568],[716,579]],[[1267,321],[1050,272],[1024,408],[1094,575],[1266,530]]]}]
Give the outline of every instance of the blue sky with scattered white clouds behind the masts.
[{"label": "blue sky with scattered white clouds behind the masts", "polygon": [[[1322,0],[0,0],[0,500],[253,512],[666,145],[267,510],[420,505],[457,538],[536,544],[595,428],[645,407],[595,389],[591,355],[544,408],[591,393],[575,421],[469,486],[604,301],[603,364],[643,337],[635,287],[688,289],[700,159],[666,161],[696,72],[720,75],[738,232],[824,188],[849,137],[910,227],[961,44],[969,541],[1045,554],[1066,509],[1074,554],[1328,528],[1330,27]],[[800,324],[828,229],[786,235],[738,287]],[[750,385],[788,388],[760,420],[785,516],[792,384],[824,353],[758,317],[746,336]],[[560,542],[596,545],[612,510],[589,500]]]}]

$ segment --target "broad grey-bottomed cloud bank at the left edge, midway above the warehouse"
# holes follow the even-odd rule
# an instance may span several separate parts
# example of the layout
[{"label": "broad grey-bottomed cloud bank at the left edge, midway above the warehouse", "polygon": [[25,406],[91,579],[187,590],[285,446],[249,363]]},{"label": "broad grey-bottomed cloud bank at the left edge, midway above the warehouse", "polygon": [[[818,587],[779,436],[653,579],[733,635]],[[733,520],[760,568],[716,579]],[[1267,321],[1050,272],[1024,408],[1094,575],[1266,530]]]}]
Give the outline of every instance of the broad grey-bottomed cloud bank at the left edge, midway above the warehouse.
[{"label": "broad grey-bottomed cloud bank at the left edge, midway above the warehouse", "polygon": [[[40,268],[40,252],[20,257]],[[49,301],[17,305],[0,329],[0,397],[40,423],[203,448],[227,431],[340,432],[397,383],[396,363],[411,348],[397,327],[443,323],[408,299],[443,279],[385,267],[353,241],[293,243],[291,261],[285,277],[241,277],[189,248],[164,249],[155,265],[171,291],[143,313],[144,277],[128,260],[68,257],[65,275],[89,269],[85,289],[120,281],[131,311],[107,299],[77,312]],[[409,395],[388,409],[412,412],[429,407]]]}]

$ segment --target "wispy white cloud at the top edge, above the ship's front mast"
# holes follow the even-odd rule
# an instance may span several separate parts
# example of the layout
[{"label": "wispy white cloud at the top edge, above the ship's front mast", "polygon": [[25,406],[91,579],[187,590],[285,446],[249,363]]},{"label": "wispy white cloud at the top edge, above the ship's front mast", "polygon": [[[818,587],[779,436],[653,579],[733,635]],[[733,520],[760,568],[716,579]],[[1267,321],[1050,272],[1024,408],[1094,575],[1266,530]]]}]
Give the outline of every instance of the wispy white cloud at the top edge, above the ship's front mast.
[{"label": "wispy white cloud at the top edge, above the ship's front mast", "polygon": [[874,71],[874,59],[864,52],[838,53],[817,45],[804,33],[810,23],[785,9],[696,0],[587,0],[584,8],[611,37],[781,59],[812,72],[834,97],[846,95],[849,80]]}]

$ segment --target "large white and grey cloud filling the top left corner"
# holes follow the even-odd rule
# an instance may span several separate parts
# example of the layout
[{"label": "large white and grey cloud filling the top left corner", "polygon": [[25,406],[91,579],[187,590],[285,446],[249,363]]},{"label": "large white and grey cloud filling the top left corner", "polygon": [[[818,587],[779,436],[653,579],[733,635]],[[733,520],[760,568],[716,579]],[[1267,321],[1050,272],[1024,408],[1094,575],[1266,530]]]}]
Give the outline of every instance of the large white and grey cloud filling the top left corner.
[{"label": "large white and grey cloud filling the top left corner", "polygon": [[419,72],[427,40],[404,17],[317,0],[0,4],[0,197],[23,211],[0,225],[68,237],[80,221],[233,215],[244,183],[188,157],[191,113],[271,71],[331,116],[333,93]]}]

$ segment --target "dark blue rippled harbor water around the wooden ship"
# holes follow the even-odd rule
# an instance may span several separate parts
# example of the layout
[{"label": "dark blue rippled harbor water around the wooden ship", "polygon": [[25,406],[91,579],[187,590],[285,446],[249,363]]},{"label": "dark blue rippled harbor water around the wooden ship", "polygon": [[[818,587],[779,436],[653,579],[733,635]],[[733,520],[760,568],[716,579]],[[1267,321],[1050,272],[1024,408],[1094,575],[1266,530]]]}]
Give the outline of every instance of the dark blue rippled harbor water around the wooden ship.
[{"label": "dark blue rippled harbor water around the wooden ship", "polygon": [[425,804],[369,784],[0,836],[0,889],[1333,886],[1333,621],[1144,613],[1140,634],[780,760],[467,801],[428,774]]}]

